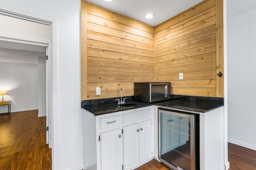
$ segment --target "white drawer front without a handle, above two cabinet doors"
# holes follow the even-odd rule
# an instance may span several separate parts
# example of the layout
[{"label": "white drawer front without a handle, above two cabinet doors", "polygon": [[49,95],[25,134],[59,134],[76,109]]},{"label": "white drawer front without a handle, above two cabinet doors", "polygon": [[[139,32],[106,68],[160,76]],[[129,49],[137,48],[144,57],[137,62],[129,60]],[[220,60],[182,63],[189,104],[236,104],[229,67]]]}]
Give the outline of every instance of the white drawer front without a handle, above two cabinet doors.
[{"label": "white drawer front without a handle, above two cabinet doors", "polygon": [[151,119],[151,109],[124,113],[124,123],[139,121],[142,119]]}]

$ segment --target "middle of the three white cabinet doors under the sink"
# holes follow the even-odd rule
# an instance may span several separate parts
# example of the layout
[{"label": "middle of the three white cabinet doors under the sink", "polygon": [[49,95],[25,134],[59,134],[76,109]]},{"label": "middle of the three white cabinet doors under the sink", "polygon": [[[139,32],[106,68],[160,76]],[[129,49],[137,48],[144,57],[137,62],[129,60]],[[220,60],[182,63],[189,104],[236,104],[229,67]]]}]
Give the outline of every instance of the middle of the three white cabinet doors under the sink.
[{"label": "middle of the three white cabinet doors under the sink", "polygon": [[124,170],[130,170],[139,162],[139,124],[125,126],[124,140]]}]

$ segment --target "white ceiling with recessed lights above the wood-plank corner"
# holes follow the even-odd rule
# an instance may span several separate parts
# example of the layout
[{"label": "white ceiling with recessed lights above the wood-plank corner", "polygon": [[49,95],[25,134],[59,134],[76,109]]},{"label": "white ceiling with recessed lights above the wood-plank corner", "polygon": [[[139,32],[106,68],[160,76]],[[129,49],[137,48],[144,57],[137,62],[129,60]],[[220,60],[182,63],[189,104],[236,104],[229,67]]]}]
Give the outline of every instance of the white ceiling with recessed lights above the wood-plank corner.
[{"label": "white ceiling with recessed lights above the wood-plank corner", "polygon": [[[92,4],[118,12],[135,20],[156,26],[180,12],[198,4],[202,0],[86,0]],[[147,13],[154,13],[152,19],[146,19]]]}]

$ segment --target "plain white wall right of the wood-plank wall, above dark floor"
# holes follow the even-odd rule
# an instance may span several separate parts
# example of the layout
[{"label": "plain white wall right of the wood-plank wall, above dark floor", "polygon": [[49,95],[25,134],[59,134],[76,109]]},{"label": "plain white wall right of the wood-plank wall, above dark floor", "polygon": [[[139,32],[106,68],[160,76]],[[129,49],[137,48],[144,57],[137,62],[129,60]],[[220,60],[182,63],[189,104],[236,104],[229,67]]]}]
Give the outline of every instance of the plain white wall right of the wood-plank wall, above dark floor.
[{"label": "plain white wall right of the wood-plank wall, above dark floor", "polygon": [[[243,2],[240,2],[243,6]],[[227,20],[228,142],[256,150],[256,9]]]}]

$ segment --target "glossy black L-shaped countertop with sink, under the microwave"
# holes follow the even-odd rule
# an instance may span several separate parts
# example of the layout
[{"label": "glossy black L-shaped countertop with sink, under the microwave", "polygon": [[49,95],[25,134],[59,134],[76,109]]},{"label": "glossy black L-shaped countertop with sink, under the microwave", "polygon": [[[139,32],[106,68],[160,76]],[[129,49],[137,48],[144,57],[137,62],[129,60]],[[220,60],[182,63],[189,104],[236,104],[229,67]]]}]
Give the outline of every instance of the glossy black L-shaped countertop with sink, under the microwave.
[{"label": "glossy black L-shaped countertop with sink, under the microwave", "polygon": [[164,106],[176,109],[183,109],[187,111],[196,111],[205,113],[218,107],[223,106],[223,98],[198,97],[198,96],[173,96],[171,100],[155,103],[144,103],[133,101],[133,96],[126,96],[126,103],[134,103],[134,106],[118,106],[115,98],[101,99],[101,100],[86,100],[82,101],[81,107],[92,114],[102,115],[106,113],[113,113],[117,111],[124,111],[129,109],[136,109],[146,106]]}]

